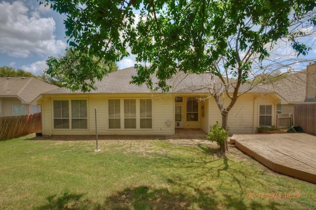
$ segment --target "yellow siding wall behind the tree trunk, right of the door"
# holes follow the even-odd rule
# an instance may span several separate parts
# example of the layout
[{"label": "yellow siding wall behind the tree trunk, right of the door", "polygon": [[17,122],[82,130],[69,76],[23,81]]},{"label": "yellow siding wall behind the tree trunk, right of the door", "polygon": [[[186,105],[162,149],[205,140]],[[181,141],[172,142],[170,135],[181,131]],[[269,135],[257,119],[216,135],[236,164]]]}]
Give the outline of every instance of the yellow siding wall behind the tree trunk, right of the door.
[{"label": "yellow siding wall behind the tree trunk, right of the door", "polygon": [[[276,104],[279,99],[275,95],[244,94],[239,96],[228,116],[229,134],[251,134],[255,133],[259,126],[259,106],[273,105],[272,124],[276,125]],[[225,103],[227,106],[227,104]],[[209,98],[209,125],[222,123],[222,115],[214,98]]]}]

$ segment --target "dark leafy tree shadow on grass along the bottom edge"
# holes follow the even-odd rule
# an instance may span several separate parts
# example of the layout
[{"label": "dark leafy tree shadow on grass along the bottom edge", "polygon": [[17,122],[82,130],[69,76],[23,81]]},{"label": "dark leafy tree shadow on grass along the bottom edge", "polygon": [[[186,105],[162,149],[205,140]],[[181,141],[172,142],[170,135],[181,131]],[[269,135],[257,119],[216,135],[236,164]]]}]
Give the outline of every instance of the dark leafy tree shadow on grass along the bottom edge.
[{"label": "dark leafy tree shadow on grass along the bottom edge", "polygon": [[[182,185],[170,180],[172,185]],[[262,204],[244,197],[220,195],[212,188],[197,188],[190,192],[172,192],[167,188],[138,186],[126,188],[105,198],[103,204],[83,199],[83,194],[64,193],[47,197],[48,203],[34,210],[278,210],[280,204]]]}]

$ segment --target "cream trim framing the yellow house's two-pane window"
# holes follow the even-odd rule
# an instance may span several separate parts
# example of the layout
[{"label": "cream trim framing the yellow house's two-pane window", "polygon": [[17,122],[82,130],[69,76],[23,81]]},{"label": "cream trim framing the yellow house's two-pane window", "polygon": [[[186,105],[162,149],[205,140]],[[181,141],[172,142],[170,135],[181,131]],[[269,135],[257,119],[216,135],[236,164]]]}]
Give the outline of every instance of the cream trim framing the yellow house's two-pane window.
[{"label": "cream trim framing the yellow house's two-pane window", "polygon": [[[68,107],[69,107],[69,128],[54,128],[54,101],[66,101],[68,100]],[[72,118],[72,113],[71,113],[71,101],[72,100],[86,100],[87,101],[87,128],[72,128],[72,119],[79,119],[79,118]],[[51,127],[52,130],[89,130],[89,100],[88,98],[54,98],[51,100]],[[80,119],[85,119],[85,118],[80,118]]]}]

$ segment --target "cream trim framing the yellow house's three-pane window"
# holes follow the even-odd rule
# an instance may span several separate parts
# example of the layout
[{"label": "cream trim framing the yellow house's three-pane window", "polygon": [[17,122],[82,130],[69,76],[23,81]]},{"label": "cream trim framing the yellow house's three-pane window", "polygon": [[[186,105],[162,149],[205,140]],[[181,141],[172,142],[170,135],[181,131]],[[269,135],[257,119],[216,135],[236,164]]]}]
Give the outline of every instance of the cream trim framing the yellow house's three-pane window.
[{"label": "cream trim framing the yellow house's three-pane window", "polygon": [[[120,109],[120,128],[109,128],[109,100],[119,99]],[[124,99],[136,100],[136,128],[124,128]],[[140,99],[151,99],[152,100],[152,128],[140,128]],[[108,98],[107,100],[107,128],[108,130],[154,130],[154,100],[153,98]]]}]

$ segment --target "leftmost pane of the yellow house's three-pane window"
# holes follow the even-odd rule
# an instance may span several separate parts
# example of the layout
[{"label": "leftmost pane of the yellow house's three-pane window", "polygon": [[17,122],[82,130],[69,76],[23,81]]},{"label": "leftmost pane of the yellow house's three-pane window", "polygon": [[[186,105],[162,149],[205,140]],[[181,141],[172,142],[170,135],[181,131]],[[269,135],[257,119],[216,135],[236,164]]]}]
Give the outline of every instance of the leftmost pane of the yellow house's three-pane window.
[{"label": "leftmost pane of the yellow house's three-pane window", "polygon": [[120,128],[119,99],[109,100],[109,128]]}]

